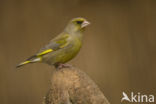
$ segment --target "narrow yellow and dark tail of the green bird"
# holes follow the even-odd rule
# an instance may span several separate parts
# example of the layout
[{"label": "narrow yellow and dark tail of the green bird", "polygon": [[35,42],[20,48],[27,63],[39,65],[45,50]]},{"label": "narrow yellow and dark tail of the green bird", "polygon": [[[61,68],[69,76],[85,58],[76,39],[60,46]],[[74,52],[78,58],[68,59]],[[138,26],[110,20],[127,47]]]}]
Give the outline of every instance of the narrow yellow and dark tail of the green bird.
[{"label": "narrow yellow and dark tail of the green bird", "polygon": [[21,62],[20,64],[18,64],[16,66],[16,68],[19,68],[19,67],[21,67],[23,65],[26,65],[26,64],[29,64],[29,63],[35,63],[35,62],[39,62],[39,61],[41,61],[41,57],[37,57],[36,55],[34,55],[34,56],[28,58],[26,61]]}]

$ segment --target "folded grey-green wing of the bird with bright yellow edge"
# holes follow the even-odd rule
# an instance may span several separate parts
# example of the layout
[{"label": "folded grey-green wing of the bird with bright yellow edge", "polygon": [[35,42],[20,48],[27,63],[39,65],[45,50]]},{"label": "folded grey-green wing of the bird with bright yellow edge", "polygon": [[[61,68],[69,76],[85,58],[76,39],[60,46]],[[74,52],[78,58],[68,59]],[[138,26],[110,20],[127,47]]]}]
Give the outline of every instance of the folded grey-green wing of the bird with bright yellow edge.
[{"label": "folded grey-green wing of the bird with bright yellow edge", "polygon": [[45,54],[48,54],[50,52],[62,49],[68,45],[68,38],[69,34],[60,34],[56,38],[52,39],[49,44],[47,44],[45,47],[41,48],[39,52],[36,54],[37,56],[43,56]]}]

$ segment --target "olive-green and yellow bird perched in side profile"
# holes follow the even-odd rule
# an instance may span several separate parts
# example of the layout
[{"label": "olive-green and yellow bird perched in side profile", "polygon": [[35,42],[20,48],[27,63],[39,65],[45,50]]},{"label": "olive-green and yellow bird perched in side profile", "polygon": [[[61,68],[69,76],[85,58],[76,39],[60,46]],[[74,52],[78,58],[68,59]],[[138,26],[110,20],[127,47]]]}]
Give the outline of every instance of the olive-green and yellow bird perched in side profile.
[{"label": "olive-green and yellow bird perched in side profile", "polygon": [[17,67],[36,62],[54,65],[56,68],[66,66],[65,63],[79,52],[82,46],[83,32],[89,24],[84,18],[72,19],[61,34]]}]

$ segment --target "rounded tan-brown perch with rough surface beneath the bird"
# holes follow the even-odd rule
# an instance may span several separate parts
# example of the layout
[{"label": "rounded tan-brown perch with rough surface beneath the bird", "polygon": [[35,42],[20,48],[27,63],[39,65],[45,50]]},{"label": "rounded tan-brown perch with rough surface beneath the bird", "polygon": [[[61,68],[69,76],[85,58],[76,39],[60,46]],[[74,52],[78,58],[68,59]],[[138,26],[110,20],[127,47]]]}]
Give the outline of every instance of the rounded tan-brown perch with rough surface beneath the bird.
[{"label": "rounded tan-brown perch with rough surface beneath the bird", "polygon": [[55,70],[43,104],[109,104],[98,86],[81,70]]}]

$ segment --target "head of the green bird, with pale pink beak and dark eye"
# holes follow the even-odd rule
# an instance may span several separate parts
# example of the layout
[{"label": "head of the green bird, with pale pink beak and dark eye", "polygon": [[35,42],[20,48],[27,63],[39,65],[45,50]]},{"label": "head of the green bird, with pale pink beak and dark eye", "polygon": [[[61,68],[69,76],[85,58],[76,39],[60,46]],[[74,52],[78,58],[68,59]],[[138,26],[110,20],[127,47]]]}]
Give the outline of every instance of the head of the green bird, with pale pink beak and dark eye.
[{"label": "head of the green bird, with pale pink beak and dark eye", "polygon": [[85,27],[87,27],[89,24],[90,22],[88,22],[85,18],[74,18],[68,23],[66,30],[68,32],[81,32],[84,31]]}]

